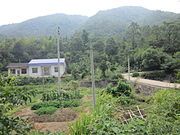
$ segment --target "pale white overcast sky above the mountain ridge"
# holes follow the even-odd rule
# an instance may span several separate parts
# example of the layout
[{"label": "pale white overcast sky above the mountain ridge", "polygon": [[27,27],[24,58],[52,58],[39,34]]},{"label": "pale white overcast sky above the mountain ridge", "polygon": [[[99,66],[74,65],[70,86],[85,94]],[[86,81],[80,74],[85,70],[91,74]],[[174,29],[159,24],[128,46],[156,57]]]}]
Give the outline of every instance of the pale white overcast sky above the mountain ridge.
[{"label": "pale white overcast sky above the mountain ridge", "polygon": [[180,13],[180,0],[0,0],[0,25],[55,13],[92,16],[121,6]]}]

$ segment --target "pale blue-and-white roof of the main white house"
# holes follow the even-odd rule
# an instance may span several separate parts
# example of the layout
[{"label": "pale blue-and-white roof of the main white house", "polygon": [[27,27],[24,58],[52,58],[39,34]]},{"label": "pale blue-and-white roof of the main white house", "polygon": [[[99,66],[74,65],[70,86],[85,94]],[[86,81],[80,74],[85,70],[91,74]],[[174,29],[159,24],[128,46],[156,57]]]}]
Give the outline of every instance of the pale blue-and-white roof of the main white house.
[{"label": "pale blue-and-white roof of the main white house", "polygon": [[[60,58],[60,64],[65,63],[65,58]],[[32,59],[28,65],[49,65],[58,64],[58,59]]]}]

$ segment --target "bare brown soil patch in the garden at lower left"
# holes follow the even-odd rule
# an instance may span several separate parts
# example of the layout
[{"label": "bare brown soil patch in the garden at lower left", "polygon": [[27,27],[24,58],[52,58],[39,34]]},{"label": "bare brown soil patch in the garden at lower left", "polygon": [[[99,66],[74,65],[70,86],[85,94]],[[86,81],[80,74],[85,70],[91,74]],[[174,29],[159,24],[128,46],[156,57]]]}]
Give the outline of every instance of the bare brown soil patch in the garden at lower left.
[{"label": "bare brown soil patch in the garden at lower left", "polygon": [[33,123],[33,127],[36,130],[42,132],[67,132],[69,124],[77,118],[77,113],[71,108],[63,108],[57,110],[53,115],[37,115],[30,108],[24,108],[15,113],[15,116],[19,116],[28,119]]}]

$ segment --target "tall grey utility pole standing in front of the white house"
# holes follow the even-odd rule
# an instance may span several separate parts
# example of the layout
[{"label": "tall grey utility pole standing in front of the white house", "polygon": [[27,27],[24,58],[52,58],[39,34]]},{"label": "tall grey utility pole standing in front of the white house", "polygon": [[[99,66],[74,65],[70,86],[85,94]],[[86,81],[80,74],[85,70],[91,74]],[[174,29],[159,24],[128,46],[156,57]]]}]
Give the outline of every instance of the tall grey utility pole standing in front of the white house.
[{"label": "tall grey utility pole standing in front of the white house", "polygon": [[57,55],[58,55],[58,92],[61,91],[61,77],[60,77],[60,27],[58,27],[57,35]]}]

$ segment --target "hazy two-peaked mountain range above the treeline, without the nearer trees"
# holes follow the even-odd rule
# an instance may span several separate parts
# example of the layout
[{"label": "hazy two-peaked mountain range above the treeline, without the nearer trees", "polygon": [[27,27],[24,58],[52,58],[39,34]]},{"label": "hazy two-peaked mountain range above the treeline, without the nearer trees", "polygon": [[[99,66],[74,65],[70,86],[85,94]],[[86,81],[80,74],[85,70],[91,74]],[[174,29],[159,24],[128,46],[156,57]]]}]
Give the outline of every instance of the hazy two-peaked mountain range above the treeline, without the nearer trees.
[{"label": "hazy two-peaked mountain range above the treeline, without the nearer trees", "polygon": [[123,32],[131,22],[142,25],[158,25],[180,18],[180,14],[153,11],[142,7],[125,6],[99,11],[92,17],[54,14],[0,27],[0,35],[12,37],[50,36],[61,27],[62,35],[70,36],[76,30],[87,30],[94,35],[114,35]]}]

